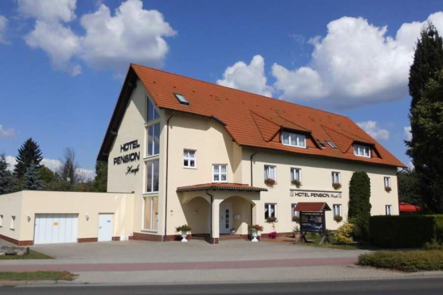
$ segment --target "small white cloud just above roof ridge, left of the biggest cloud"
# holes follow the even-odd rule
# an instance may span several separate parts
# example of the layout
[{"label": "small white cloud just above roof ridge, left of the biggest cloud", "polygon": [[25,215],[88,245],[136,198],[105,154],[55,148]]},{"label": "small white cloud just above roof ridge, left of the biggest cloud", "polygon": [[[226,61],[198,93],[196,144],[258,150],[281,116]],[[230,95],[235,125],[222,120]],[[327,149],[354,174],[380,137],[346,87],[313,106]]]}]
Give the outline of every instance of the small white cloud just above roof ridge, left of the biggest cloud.
[{"label": "small white cloud just above roof ridge, left of the biggest cloud", "polygon": [[266,85],[264,59],[260,55],[254,56],[249,65],[237,62],[228,66],[223,73],[223,79],[217,80],[217,84],[267,97],[271,97],[273,92],[273,88]]}]

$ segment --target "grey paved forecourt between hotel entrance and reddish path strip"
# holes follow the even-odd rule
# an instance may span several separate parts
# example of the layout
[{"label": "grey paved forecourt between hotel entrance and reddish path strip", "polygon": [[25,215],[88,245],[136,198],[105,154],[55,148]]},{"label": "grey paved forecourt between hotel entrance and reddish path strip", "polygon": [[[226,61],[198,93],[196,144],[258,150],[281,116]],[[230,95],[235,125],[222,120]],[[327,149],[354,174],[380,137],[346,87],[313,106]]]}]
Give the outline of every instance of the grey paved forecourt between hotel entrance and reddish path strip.
[{"label": "grey paved forecourt between hotel entrance and reddish path strip", "polygon": [[338,250],[245,240],[181,242],[112,241],[34,245],[32,249],[71,263],[217,262],[358,257],[364,250]]}]

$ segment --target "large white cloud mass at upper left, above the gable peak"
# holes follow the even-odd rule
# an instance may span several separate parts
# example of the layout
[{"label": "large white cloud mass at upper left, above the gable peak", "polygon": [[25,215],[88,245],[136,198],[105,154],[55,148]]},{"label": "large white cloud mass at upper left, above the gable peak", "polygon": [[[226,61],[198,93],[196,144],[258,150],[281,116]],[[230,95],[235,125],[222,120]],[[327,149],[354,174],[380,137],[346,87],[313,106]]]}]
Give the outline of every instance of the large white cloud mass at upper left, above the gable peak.
[{"label": "large white cloud mass at upper left, above the gable peak", "polygon": [[71,75],[81,73],[79,60],[117,71],[129,63],[161,66],[169,50],[164,37],[176,34],[160,12],[143,9],[141,0],[122,2],[114,15],[100,4],[94,13],[81,16],[84,35],[67,25],[76,17],[75,9],[76,0],[19,1],[19,11],[36,19],[26,43],[45,51],[56,69]]}]

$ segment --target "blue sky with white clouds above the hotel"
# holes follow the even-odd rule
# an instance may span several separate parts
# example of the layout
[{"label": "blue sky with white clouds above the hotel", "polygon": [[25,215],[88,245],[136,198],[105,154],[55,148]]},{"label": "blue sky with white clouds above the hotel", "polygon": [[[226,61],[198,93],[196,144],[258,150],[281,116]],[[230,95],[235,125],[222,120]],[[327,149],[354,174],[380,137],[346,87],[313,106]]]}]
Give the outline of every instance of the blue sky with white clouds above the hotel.
[{"label": "blue sky with white clouds above the hotel", "polygon": [[270,3],[1,1],[0,152],[32,137],[93,170],[134,62],[349,116],[408,164],[413,45],[441,1]]}]

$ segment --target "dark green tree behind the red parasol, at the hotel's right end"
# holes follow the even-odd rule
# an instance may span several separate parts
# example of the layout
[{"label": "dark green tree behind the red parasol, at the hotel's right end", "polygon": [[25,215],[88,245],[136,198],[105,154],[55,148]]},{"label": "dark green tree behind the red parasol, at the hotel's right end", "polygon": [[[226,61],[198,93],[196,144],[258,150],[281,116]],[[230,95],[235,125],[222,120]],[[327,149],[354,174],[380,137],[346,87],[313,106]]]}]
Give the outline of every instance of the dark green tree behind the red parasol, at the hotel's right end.
[{"label": "dark green tree behind the red parasol, at the hotel's right end", "polygon": [[415,170],[405,169],[397,174],[400,202],[422,206],[420,179]]}]

